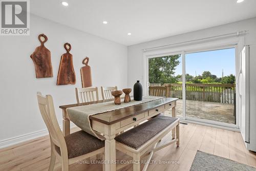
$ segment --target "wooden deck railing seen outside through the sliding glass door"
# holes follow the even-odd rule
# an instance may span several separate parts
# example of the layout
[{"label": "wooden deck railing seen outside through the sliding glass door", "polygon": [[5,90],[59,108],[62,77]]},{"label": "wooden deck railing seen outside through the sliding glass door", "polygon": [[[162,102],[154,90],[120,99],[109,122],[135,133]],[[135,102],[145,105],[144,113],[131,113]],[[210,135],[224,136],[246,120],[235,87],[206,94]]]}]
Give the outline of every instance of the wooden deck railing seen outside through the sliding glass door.
[{"label": "wooden deck railing seen outside through the sliding glass door", "polygon": [[[165,83],[162,87],[166,88],[166,96],[182,99],[182,84]],[[150,87],[151,90],[151,87]],[[150,91],[151,92],[151,91]],[[187,83],[186,99],[197,101],[209,101],[220,103],[234,103],[236,96],[235,84],[203,84]]]}]

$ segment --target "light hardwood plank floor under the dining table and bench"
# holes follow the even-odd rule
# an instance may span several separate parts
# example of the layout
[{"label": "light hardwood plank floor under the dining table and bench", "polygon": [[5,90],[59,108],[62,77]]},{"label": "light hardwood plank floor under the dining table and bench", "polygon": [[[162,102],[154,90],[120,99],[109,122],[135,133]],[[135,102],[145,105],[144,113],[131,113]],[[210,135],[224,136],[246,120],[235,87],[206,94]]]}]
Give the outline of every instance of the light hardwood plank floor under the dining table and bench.
[{"label": "light hardwood plank floor under the dining table and bench", "polygon": [[[72,132],[78,130],[78,128],[74,128]],[[148,166],[148,171],[189,170],[197,150],[256,167],[256,154],[247,151],[241,134],[238,132],[188,123],[188,125],[180,125],[180,133],[180,147],[177,148],[175,144],[172,144],[156,152],[152,158],[152,160],[155,160],[157,163],[159,161],[173,161],[176,162],[176,164],[152,163]],[[160,144],[170,140],[171,137],[172,136],[167,135],[162,139]],[[92,160],[93,159],[95,158],[92,158]],[[129,156],[117,152],[117,160],[131,159],[132,158]],[[144,160],[146,160],[146,158]],[[0,149],[1,171],[48,170],[49,162],[49,136]],[[56,162],[54,170],[61,170],[60,163]],[[70,170],[102,170],[102,164],[75,163],[70,166]],[[132,171],[132,164],[120,170]]]}]

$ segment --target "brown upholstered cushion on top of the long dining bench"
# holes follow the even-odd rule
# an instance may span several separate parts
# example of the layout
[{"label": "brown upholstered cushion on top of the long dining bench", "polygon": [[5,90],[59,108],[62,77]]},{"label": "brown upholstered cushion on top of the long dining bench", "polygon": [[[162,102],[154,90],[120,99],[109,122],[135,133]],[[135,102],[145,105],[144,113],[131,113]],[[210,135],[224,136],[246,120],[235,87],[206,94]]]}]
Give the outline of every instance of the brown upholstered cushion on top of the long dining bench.
[{"label": "brown upholstered cushion on top of the long dining bench", "polygon": [[178,118],[160,115],[136,126],[134,129],[118,135],[115,140],[124,145],[138,149],[176,120],[178,120]]}]

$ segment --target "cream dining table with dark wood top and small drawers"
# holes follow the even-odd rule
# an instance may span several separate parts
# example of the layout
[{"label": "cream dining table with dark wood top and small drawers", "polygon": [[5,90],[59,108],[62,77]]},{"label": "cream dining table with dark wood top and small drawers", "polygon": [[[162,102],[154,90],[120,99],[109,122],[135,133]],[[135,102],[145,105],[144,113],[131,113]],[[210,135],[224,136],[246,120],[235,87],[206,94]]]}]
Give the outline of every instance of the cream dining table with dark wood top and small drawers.
[{"label": "cream dining table with dark wood top and small drawers", "polygon": [[[101,111],[100,113],[90,115],[89,119],[92,130],[103,135],[105,138],[105,162],[103,166],[105,167],[105,171],[116,170],[116,135],[167,110],[172,110],[172,117],[177,117],[177,100],[178,98],[161,97],[152,101],[119,108],[117,110]],[[77,106],[88,107],[88,105],[110,103],[110,101],[113,101],[114,103],[114,99],[106,99],[59,106],[62,110],[63,135],[67,136],[70,134],[70,116],[67,112],[69,108]],[[172,130],[172,136],[175,138],[175,129]]]}]

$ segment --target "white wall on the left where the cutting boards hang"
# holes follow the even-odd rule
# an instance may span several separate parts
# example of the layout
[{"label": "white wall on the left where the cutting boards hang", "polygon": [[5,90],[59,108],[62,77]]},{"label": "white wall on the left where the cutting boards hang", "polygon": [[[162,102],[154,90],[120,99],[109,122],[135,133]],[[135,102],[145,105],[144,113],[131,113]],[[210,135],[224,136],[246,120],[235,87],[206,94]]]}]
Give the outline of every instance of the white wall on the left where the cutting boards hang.
[{"label": "white wall on the left where the cutting boards hang", "polygon": [[[55,112],[62,124],[59,105],[75,103],[75,88],[81,87],[82,59],[90,58],[93,86],[127,87],[127,47],[50,20],[31,16],[30,36],[0,36],[0,146],[16,136],[45,130],[36,92],[51,94]],[[30,54],[40,45],[37,36],[48,36],[45,46],[51,51],[52,78],[35,78]],[[65,42],[72,45],[76,84],[56,86],[60,56]],[[13,141],[10,141],[12,143]]]}]

